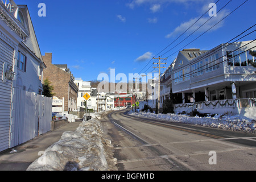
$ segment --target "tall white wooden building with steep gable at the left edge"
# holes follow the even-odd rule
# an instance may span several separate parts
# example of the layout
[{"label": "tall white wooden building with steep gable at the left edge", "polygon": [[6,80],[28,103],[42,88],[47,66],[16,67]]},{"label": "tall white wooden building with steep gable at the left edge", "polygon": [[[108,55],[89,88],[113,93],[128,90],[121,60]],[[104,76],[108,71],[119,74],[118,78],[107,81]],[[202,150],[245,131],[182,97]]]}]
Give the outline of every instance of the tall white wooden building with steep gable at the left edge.
[{"label": "tall white wooden building with steep gable at the left edge", "polygon": [[[6,0],[5,3],[0,1],[0,18],[1,152],[26,142],[26,140],[40,133],[38,127],[39,118],[36,121],[32,121],[27,117],[31,115],[33,110],[35,111],[34,113],[37,113],[36,106],[39,106],[42,102],[43,109],[46,109],[48,102],[51,105],[51,102],[44,100],[44,97],[40,96],[43,90],[42,70],[46,68],[46,65],[42,61],[42,55],[27,6],[16,5],[13,0]],[[6,75],[8,72],[14,73],[14,77],[8,78]],[[26,110],[22,109],[20,104],[25,105],[26,101],[23,102],[22,99],[28,97],[34,98],[36,106],[31,108],[30,113],[25,113]],[[36,99],[37,97],[38,99]],[[43,99],[42,102],[39,101],[41,98]],[[27,106],[29,105],[31,103],[27,103]],[[28,119],[27,123],[24,123],[26,119],[23,117]],[[30,125],[30,123],[33,123],[34,126]],[[30,126],[25,126],[27,124]],[[20,125],[24,127],[19,127]],[[28,129],[31,131],[27,132],[31,133],[30,137],[23,135]]]}]

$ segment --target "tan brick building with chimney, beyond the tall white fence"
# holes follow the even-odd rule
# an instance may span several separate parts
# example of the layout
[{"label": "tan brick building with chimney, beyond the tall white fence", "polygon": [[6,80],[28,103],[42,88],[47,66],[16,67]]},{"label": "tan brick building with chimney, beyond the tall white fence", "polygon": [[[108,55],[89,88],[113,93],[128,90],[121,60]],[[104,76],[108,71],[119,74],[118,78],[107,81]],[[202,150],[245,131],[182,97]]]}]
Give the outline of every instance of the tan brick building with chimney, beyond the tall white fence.
[{"label": "tan brick building with chimney, beyond the tall white fence", "polygon": [[64,111],[77,110],[77,88],[72,73],[69,71],[67,64],[52,64],[52,53],[46,53],[43,61],[47,68],[43,71],[43,81],[48,78],[54,86],[54,96],[59,99],[65,98]]}]

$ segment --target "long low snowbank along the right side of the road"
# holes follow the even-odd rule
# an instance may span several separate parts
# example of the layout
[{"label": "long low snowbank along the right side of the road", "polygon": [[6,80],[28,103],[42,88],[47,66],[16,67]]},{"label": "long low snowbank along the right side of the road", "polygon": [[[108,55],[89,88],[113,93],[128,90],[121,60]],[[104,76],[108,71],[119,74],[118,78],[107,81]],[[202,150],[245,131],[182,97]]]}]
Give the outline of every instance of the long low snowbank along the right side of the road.
[{"label": "long low snowbank along the right side of the road", "polygon": [[164,121],[170,122],[181,122],[192,125],[218,127],[220,129],[244,131],[250,133],[256,132],[256,121],[241,115],[228,116],[216,114],[214,117],[189,117],[188,115],[182,114],[154,114],[146,112],[134,113],[132,111],[129,111],[128,114],[143,118],[162,119]]}]

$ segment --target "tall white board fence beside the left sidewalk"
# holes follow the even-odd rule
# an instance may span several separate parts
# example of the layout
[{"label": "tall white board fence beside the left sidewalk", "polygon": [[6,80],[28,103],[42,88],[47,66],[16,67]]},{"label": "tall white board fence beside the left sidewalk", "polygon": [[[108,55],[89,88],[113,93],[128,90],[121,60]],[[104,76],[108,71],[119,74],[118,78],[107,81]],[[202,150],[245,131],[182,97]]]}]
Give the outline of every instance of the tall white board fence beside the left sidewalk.
[{"label": "tall white board fence beside the left sidewalk", "polygon": [[10,148],[51,130],[52,98],[15,89]]}]

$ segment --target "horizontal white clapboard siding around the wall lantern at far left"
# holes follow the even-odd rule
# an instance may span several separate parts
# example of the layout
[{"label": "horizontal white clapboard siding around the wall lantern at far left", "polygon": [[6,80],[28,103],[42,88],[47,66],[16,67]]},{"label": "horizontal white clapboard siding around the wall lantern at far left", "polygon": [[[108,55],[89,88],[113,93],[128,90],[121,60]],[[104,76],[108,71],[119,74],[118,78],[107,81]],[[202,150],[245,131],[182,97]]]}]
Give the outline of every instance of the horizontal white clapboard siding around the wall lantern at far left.
[{"label": "horizontal white clapboard siding around the wall lantern at far left", "polygon": [[3,82],[3,64],[13,66],[14,49],[0,39],[0,151],[9,148],[12,81]]}]

